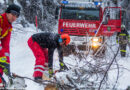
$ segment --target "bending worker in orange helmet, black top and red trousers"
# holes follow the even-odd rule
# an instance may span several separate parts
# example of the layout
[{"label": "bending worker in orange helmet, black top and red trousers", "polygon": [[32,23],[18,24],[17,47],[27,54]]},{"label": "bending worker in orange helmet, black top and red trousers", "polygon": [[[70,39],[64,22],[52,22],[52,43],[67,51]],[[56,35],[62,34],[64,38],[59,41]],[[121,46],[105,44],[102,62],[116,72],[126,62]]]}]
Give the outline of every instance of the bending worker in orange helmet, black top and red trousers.
[{"label": "bending worker in orange helmet, black top and red trousers", "polygon": [[[63,63],[62,47],[70,43],[70,36],[68,34],[52,34],[52,33],[37,33],[32,35],[28,40],[28,45],[31,48],[36,61],[34,67],[33,77],[35,80],[44,80],[46,78],[43,72],[49,68],[49,77],[53,75],[53,53],[57,48],[59,53],[60,70],[65,69]],[[44,78],[45,77],[45,78]]]}]

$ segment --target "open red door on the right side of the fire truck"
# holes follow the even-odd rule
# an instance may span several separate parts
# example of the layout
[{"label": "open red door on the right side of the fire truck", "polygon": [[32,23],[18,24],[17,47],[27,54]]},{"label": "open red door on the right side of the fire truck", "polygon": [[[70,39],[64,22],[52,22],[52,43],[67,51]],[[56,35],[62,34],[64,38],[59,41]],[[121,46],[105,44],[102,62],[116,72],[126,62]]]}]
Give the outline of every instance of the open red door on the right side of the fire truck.
[{"label": "open red door on the right side of the fire truck", "polygon": [[107,7],[103,12],[102,34],[111,36],[114,32],[121,31],[121,8]]}]

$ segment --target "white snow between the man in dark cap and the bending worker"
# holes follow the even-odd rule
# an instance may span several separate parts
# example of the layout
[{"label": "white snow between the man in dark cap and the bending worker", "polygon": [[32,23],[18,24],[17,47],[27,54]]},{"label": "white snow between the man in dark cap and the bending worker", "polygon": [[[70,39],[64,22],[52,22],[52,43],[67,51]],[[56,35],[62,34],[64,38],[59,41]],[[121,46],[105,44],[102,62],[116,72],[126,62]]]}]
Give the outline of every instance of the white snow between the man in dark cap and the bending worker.
[{"label": "white snow between the man in dark cap and the bending worker", "polygon": [[[14,33],[11,39],[11,71],[21,76],[31,77],[33,75],[33,68],[35,63],[35,57],[28,47],[27,40],[29,37],[36,33],[36,29],[33,28],[20,28],[23,32]],[[14,29],[17,31],[17,29]],[[25,32],[24,32],[25,31]],[[26,80],[27,90],[40,90],[43,88],[38,84]],[[33,87],[32,87],[33,86]]]}]

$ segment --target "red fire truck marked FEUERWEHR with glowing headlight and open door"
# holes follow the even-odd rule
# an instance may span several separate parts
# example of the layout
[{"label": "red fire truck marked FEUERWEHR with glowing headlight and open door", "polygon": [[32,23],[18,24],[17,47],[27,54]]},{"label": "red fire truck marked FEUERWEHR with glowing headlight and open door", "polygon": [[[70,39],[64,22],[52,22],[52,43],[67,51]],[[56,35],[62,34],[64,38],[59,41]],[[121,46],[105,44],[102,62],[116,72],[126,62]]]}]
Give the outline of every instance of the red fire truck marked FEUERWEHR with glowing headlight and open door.
[{"label": "red fire truck marked FEUERWEHR with glowing headlight and open door", "polygon": [[121,8],[102,7],[101,4],[65,0],[56,8],[58,33],[71,36],[67,52],[75,51],[74,48],[88,50],[87,46],[95,52],[105,42],[105,37],[121,31]]}]

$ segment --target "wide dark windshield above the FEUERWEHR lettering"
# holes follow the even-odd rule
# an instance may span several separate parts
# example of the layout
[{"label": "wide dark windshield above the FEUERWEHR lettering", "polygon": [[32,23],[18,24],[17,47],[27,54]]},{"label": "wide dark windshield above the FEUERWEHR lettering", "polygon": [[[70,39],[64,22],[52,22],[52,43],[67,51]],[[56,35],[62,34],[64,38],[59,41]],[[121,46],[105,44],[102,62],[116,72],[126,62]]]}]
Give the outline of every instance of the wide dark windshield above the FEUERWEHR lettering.
[{"label": "wide dark windshield above the FEUERWEHR lettering", "polygon": [[62,8],[61,19],[99,20],[100,9]]}]

